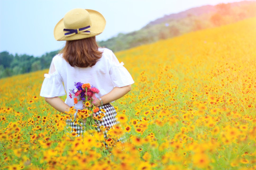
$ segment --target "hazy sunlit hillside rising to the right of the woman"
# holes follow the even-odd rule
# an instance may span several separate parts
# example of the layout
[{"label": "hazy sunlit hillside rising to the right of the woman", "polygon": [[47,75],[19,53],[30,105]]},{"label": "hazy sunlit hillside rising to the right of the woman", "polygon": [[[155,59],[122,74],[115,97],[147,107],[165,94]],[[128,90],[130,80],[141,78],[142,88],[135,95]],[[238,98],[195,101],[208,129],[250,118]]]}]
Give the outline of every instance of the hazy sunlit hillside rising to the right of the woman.
[{"label": "hazy sunlit hillside rising to the right of the woman", "polygon": [[192,31],[223,26],[256,16],[256,1],[241,1],[216,6],[202,6],[170,14],[150,22],[140,30],[119,34],[100,46],[121,51],[142,44],[172,38]]}]

